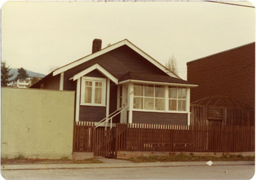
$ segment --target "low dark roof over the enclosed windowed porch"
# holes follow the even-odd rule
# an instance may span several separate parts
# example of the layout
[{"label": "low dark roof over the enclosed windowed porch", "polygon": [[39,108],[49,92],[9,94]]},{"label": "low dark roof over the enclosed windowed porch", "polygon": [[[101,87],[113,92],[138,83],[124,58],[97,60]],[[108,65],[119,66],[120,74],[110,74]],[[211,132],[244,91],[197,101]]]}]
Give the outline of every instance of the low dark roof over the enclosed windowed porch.
[{"label": "low dark roof over the enclosed windowed porch", "polygon": [[141,73],[136,71],[129,71],[123,77],[118,80],[118,84],[122,84],[126,80],[141,80],[141,81],[148,81],[148,82],[164,82],[170,84],[186,84],[186,86],[196,87],[197,85],[192,82],[188,82],[186,80],[177,79],[175,77],[170,77],[168,75],[159,75],[155,73]]}]

